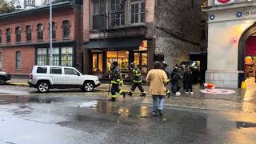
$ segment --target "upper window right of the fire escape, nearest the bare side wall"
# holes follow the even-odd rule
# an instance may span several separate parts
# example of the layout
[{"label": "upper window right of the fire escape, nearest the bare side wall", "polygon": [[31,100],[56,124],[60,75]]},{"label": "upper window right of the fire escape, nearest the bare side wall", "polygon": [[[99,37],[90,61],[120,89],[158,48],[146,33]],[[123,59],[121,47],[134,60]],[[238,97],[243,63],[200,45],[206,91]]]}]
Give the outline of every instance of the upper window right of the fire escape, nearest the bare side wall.
[{"label": "upper window right of the fire escape, nearest the bare side wall", "polygon": [[130,23],[145,22],[145,0],[131,0]]}]

